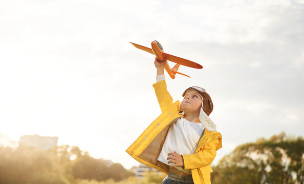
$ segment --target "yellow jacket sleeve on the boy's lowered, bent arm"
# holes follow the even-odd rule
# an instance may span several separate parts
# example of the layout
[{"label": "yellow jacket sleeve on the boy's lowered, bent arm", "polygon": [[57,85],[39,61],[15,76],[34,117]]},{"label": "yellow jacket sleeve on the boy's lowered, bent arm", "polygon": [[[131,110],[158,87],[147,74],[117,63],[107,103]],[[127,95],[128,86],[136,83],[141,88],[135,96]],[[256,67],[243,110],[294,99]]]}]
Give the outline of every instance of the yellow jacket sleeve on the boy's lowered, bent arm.
[{"label": "yellow jacket sleeve on the boy's lowered, bent arm", "polygon": [[[221,139],[221,138],[220,138]],[[215,139],[204,145],[204,148],[194,154],[183,154],[184,167],[186,169],[197,169],[211,165],[216,155],[216,148],[220,143],[220,139]]]}]

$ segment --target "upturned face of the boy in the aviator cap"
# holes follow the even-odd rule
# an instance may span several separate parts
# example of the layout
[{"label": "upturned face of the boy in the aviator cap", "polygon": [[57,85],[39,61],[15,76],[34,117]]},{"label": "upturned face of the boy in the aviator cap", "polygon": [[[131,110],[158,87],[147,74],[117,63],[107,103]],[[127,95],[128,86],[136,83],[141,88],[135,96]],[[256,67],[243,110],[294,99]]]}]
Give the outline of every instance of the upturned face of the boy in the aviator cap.
[{"label": "upturned face of the boy in the aviator cap", "polygon": [[188,91],[181,102],[181,110],[183,110],[185,113],[200,113],[202,102],[203,101],[197,91]]}]

